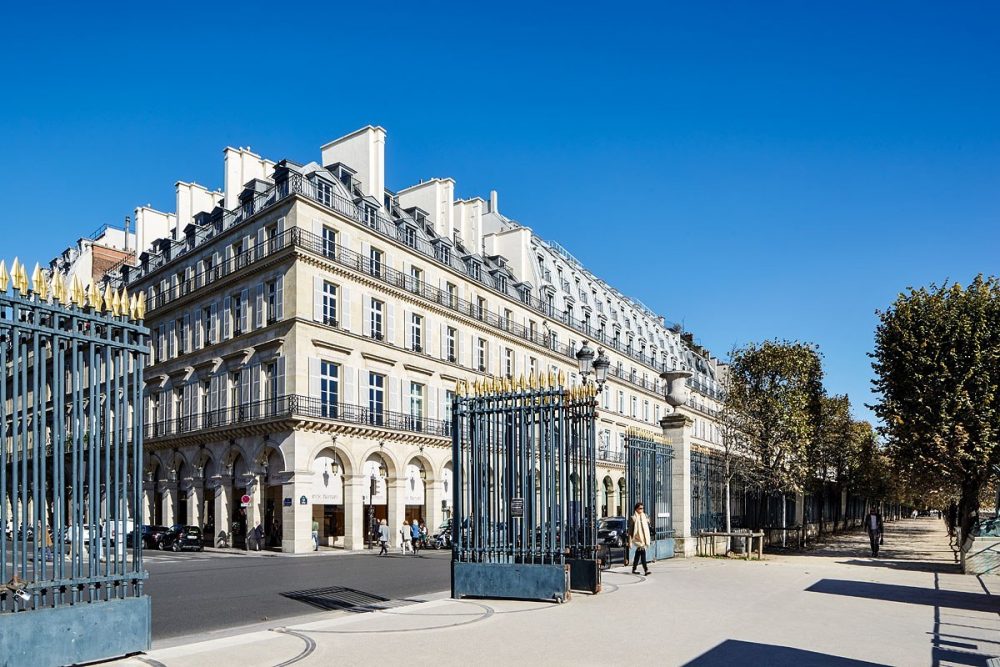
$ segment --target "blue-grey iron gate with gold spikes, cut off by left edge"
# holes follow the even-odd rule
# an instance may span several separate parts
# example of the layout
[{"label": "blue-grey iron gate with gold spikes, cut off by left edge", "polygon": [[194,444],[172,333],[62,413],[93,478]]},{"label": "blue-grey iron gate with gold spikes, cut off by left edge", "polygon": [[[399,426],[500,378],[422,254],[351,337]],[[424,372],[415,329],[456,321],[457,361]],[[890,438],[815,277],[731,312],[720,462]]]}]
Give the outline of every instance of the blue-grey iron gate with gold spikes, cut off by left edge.
[{"label": "blue-grey iron gate with gold spikes, cut off by left edge", "polygon": [[144,650],[145,299],[32,284],[0,261],[0,664]]}]

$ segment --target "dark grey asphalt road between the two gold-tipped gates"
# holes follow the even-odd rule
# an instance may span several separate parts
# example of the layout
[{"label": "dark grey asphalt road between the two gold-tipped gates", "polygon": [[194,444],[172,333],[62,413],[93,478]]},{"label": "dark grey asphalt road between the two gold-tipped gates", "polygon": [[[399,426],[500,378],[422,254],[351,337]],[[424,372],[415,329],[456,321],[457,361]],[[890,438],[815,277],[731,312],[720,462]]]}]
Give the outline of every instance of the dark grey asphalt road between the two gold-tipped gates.
[{"label": "dark grey asphalt road between the two gold-tipped gates", "polygon": [[392,605],[451,585],[450,551],[423,551],[418,556],[376,553],[149,556],[145,592],[153,601],[153,639],[358,604]]}]

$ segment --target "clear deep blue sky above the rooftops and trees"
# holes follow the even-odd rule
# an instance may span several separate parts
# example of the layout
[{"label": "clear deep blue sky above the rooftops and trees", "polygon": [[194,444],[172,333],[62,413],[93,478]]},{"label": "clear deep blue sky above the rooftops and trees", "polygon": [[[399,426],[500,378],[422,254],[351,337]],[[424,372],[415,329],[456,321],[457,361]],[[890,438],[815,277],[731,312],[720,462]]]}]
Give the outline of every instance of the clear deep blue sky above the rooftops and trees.
[{"label": "clear deep blue sky above the rooftops and trees", "polygon": [[814,341],[858,415],[875,310],[997,272],[997,3],[212,4],[5,9],[8,261],[379,124],[389,187],[497,189],[719,354]]}]

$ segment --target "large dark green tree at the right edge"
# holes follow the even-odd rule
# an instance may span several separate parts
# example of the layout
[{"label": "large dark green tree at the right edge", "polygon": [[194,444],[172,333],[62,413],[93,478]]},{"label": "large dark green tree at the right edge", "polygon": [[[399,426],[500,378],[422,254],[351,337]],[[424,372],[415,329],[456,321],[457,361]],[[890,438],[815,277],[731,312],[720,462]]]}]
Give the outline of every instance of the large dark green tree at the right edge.
[{"label": "large dark green tree at the right edge", "polygon": [[880,311],[873,406],[910,489],[953,494],[968,535],[1000,464],[1000,284],[910,289]]}]

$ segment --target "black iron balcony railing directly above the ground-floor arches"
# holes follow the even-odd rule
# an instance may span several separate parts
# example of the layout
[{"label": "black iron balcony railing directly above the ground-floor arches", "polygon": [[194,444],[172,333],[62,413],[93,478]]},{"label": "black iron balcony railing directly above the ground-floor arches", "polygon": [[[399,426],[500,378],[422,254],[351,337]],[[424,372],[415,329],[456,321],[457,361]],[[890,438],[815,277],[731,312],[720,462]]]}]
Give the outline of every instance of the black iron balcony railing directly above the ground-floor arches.
[{"label": "black iron balcony railing directly above the ground-floor arches", "polygon": [[197,412],[182,417],[153,421],[146,424],[146,439],[155,440],[198,431],[239,426],[260,421],[307,417],[329,419],[347,424],[360,424],[409,431],[427,435],[449,437],[451,422],[428,419],[391,410],[378,410],[348,403],[331,403],[319,398],[287,394],[272,399],[253,401],[241,405]]}]

